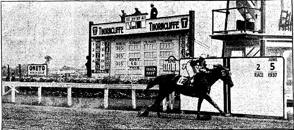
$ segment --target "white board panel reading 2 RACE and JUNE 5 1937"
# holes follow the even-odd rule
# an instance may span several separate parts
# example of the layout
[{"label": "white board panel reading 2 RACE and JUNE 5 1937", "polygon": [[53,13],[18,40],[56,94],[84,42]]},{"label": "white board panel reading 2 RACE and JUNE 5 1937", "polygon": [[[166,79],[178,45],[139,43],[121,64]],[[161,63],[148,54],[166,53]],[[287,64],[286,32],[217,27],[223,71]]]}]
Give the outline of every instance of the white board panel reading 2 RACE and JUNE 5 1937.
[{"label": "white board panel reading 2 RACE and JUNE 5 1937", "polygon": [[231,58],[231,113],[284,116],[284,58]]}]

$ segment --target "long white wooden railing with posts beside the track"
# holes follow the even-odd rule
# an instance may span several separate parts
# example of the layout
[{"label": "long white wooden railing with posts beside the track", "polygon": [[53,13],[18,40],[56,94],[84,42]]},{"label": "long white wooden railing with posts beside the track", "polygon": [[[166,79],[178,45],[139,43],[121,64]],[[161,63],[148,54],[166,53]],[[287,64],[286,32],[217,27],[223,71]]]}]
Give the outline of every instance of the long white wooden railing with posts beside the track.
[{"label": "long white wooden railing with posts beside the track", "polygon": [[[56,83],[56,82],[2,82],[2,96],[7,94],[9,91],[5,92],[5,86],[11,89],[11,102],[15,103],[15,92],[18,92],[15,87],[38,87],[38,103],[41,103],[42,87],[64,87],[67,88],[67,104],[72,105],[71,99],[71,88],[101,88],[104,89],[104,108],[108,107],[108,89],[131,89],[132,90],[132,107],[136,109],[136,94],[135,91],[140,89],[146,89],[147,85],[136,85],[136,84],[83,84],[83,83]],[[158,90],[158,85],[151,88],[151,90]],[[166,110],[166,98],[163,100],[163,110]],[[172,106],[169,102],[169,106]],[[172,109],[172,108],[171,108]]]}]

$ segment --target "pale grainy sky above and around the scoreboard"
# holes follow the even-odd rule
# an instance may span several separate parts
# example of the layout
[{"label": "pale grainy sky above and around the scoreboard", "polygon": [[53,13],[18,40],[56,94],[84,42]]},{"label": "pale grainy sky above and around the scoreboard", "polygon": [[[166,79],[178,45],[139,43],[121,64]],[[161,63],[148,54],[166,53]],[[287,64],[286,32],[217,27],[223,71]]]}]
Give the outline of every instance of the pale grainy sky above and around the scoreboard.
[{"label": "pale grainy sky above and around the scoreboard", "polygon": [[[42,64],[49,55],[48,67],[85,68],[88,55],[88,26],[120,21],[138,8],[157,17],[189,14],[195,11],[195,38],[221,55],[221,44],[211,40],[213,9],[224,9],[226,1],[1,1],[2,65]],[[150,17],[150,15],[148,16]]]}]

